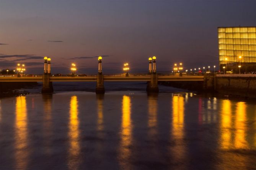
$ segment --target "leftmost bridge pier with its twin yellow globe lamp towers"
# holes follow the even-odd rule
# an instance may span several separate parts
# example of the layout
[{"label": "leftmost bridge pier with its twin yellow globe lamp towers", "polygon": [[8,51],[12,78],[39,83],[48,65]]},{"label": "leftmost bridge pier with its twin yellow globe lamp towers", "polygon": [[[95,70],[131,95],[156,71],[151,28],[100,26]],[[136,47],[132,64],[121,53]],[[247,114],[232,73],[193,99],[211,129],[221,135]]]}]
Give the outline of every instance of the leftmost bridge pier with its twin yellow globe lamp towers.
[{"label": "leftmost bridge pier with its twin yellow globe lamp towers", "polygon": [[[47,63],[48,61],[48,63]],[[42,93],[52,93],[53,86],[50,82],[51,77],[51,58],[44,57],[44,74],[42,75]]]}]

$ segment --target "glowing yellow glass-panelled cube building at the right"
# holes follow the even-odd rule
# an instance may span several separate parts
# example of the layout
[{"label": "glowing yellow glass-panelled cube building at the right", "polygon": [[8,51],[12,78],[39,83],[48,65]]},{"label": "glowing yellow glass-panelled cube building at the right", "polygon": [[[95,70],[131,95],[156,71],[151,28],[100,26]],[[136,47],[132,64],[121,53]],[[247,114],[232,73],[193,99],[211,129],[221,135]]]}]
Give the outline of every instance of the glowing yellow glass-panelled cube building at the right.
[{"label": "glowing yellow glass-panelled cube building at the right", "polygon": [[[218,27],[220,68],[256,67],[256,27]],[[241,69],[242,69],[241,67]],[[256,71],[256,70],[254,70]]]}]

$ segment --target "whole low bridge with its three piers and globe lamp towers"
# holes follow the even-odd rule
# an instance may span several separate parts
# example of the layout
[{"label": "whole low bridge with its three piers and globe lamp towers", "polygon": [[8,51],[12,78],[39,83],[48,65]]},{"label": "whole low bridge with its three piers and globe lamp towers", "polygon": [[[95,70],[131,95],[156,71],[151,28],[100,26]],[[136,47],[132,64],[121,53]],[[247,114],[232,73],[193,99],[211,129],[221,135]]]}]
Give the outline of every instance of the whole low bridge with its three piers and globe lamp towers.
[{"label": "whole low bridge with its three piers and globe lamp towers", "polygon": [[156,71],[156,58],[153,57],[153,69],[152,59],[149,58],[148,74],[137,75],[103,75],[102,72],[102,58],[98,58],[98,74],[85,77],[54,77],[51,74],[51,59],[44,58],[44,74],[37,77],[22,77],[18,74],[17,77],[0,77],[1,82],[42,82],[42,93],[52,93],[52,82],[97,82],[96,93],[104,93],[104,82],[123,82],[123,81],[139,81],[148,82],[148,92],[158,92],[158,81],[204,81],[204,76],[193,75],[158,75]]}]

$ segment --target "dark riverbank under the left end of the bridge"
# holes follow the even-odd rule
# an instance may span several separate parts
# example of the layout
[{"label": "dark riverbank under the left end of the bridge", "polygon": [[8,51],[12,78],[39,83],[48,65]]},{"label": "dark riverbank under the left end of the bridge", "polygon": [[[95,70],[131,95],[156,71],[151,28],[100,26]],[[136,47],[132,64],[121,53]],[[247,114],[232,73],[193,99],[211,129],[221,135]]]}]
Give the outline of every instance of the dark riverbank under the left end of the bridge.
[{"label": "dark riverbank under the left end of the bridge", "polygon": [[38,85],[37,82],[0,82],[0,98],[28,94],[28,92],[18,92],[17,90],[36,85]]}]

